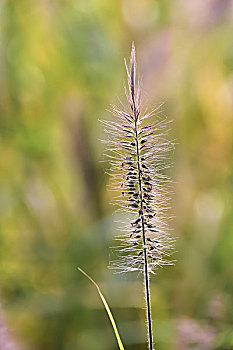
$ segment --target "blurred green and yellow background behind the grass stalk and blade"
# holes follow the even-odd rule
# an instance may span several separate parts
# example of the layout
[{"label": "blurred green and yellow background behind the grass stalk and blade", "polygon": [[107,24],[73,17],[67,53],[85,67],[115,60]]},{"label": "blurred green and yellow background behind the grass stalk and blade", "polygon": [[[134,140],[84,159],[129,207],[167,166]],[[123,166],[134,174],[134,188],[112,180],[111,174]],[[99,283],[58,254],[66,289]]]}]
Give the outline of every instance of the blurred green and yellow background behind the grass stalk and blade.
[{"label": "blurred green and yellow background behind the grass stalk and blade", "polygon": [[0,348],[146,349],[142,277],[108,269],[116,214],[99,119],[135,42],[173,120],[174,267],[152,278],[160,350],[233,349],[233,2],[0,4]]}]

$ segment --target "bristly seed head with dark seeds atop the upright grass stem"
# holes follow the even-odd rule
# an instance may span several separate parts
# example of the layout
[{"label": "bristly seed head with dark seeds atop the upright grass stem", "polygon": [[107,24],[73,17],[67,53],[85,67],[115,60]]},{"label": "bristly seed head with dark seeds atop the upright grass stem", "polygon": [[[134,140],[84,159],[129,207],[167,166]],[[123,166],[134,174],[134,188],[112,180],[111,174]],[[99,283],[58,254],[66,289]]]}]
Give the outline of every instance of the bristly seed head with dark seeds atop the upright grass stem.
[{"label": "bristly seed head with dark seeds atop the upright grass stem", "polygon": [[148,272],[171,264],[168,256],[173,240],[168,228],[170,179],[164,174],[168,153],[173,144],[167,140],[167,121],[158,116],[159,108],[144,112],[139,82],[136,82],[135,46],[132,45],[129,67],[125,60],[128,87],[125,95],[128,107],[112,107],[115,117],[102,121],[108,139],[112,189],[126,222],[123,234],[117,236],[118,259],[110,267],[118,272]]}]

